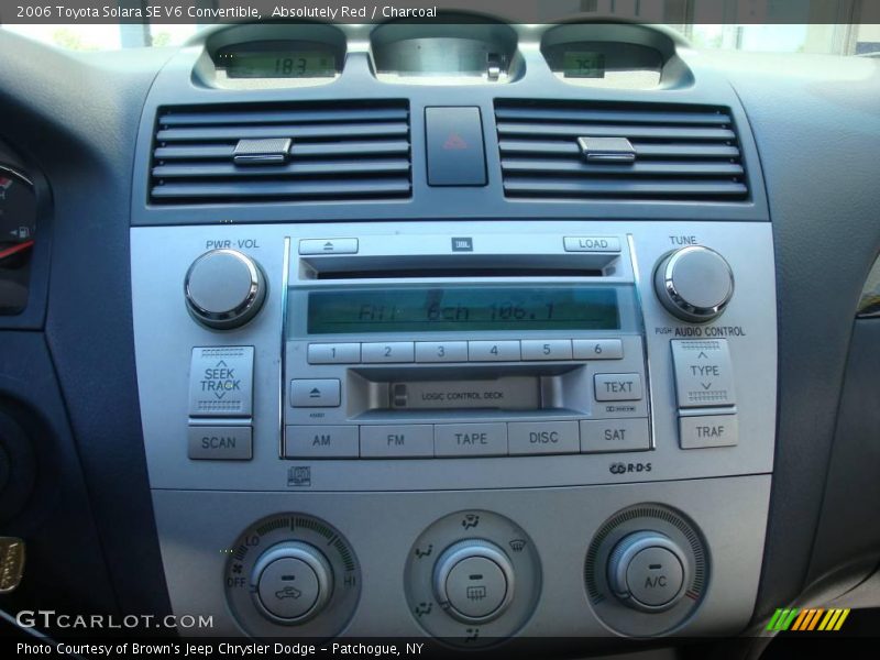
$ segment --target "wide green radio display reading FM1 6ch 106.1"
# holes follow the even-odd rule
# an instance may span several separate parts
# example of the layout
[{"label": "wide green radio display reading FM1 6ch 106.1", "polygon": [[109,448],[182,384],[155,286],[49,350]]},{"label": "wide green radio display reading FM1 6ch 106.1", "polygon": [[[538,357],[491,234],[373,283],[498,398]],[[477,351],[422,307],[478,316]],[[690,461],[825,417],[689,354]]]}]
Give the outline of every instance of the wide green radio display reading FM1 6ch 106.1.
[{"label": "wide green radio display reading FM1 6ch 106.1", "polygon": [[607,287],[435,287],[311,292],[309,334],[618,330]]}]

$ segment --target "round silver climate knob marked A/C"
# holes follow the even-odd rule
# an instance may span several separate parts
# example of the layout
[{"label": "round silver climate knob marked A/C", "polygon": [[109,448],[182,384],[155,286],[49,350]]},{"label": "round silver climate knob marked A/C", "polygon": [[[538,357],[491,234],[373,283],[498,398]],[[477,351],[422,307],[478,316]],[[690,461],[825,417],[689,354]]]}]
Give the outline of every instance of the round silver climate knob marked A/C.
[{"label": "round silver climate knob marked A/C", "polygon": [[625,605],[642,612],[662,612],[684,595],[688,560],[666,535],[637,531],[612,551],[608,584]]}]

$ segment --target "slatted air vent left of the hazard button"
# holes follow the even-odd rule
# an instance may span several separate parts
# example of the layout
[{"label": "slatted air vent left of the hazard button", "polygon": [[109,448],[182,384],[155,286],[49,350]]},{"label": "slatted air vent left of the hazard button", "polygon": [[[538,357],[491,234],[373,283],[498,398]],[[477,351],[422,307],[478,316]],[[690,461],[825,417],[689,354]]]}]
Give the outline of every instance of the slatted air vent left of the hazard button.
[{"label": "slatted air vent left of the hazard button", "polygon": [[388,199],[409,197],[410,190],[406,101],[166,107],[158,112],[153,204]]}]

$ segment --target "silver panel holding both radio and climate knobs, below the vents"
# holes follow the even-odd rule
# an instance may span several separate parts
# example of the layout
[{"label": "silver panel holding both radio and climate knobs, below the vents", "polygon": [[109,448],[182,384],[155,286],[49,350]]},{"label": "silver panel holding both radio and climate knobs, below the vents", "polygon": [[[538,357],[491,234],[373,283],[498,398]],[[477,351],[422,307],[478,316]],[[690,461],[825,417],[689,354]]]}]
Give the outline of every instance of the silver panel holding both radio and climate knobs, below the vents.
[{"label": "silver panel holding both radio and climate knobs, below the vents", "polygon": [[133,230],[175,608],[254,636],[745,623],[773,450],[769,227],[469,229]]}]

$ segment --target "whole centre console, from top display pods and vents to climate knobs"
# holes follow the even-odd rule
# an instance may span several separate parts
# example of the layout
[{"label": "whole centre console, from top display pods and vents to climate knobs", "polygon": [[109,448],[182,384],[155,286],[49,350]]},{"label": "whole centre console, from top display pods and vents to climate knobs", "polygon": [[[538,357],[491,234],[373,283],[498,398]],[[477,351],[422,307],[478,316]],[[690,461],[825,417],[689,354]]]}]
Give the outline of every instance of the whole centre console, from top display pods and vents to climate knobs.
[{"label": "whole centre console, from top display pods and vents to climate knobs", "polygon": [[[219,30],[144,108],[145,453],[173,608],[213,617],[185,632],[741,630],[777,317],[729,86],[645,26],[370,28]],[[450,40],[462,70],[393,75]]]}]

